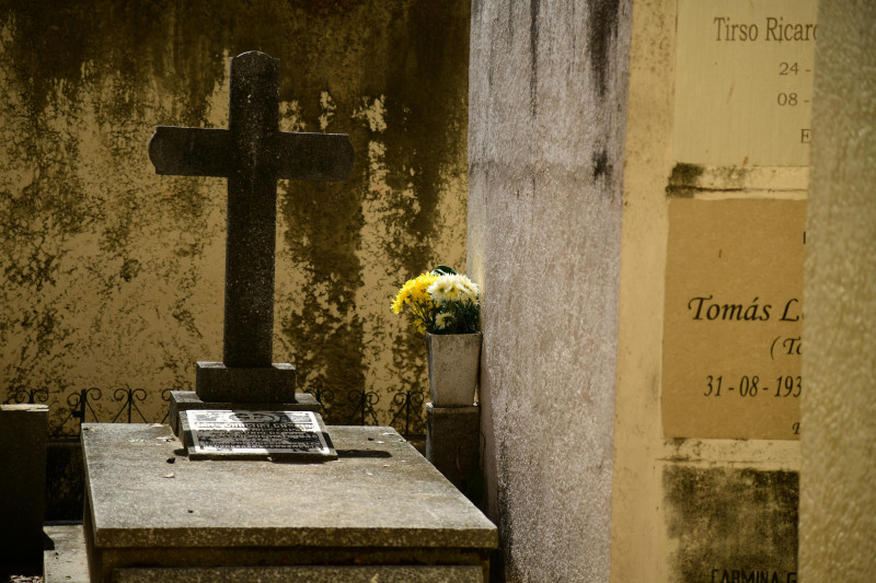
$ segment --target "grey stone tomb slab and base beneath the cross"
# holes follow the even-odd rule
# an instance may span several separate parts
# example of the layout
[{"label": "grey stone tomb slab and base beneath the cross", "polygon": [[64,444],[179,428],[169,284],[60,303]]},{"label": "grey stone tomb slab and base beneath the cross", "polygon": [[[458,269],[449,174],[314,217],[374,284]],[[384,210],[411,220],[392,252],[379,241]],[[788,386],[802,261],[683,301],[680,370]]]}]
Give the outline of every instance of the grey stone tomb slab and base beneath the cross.
[{"label": "grey stone tomb slab and base beneath the cross", "polygon": [[481,511],[393,429],[328,429],[336,460],[286,464],[191,459],[163,425],[83,424],[91,581],[487,580],[498,540]]}]

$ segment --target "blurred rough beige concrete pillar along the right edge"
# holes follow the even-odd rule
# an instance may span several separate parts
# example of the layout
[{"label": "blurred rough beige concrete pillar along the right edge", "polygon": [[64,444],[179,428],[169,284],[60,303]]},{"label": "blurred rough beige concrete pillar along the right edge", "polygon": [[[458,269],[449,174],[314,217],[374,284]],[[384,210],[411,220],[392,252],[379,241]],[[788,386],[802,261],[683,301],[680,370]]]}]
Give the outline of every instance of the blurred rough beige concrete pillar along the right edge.
[{"label": "blurred rough beige concrete pillar along the right edge", "polygon": [[876,7],[820,2],[803,366],[800,581],[876,572]]}]

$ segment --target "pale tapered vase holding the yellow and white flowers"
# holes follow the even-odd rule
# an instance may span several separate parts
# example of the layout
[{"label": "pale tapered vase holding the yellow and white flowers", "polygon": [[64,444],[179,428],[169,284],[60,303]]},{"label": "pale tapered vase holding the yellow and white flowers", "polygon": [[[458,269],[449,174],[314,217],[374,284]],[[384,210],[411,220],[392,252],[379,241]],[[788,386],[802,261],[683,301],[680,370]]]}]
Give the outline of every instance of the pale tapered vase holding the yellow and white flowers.
[{"label": "pale tapered vase holding the yellow and white flowers", "polygon": [[481,364],[482,333],[426,333],[429,394],[434,407],[471,407]]}]

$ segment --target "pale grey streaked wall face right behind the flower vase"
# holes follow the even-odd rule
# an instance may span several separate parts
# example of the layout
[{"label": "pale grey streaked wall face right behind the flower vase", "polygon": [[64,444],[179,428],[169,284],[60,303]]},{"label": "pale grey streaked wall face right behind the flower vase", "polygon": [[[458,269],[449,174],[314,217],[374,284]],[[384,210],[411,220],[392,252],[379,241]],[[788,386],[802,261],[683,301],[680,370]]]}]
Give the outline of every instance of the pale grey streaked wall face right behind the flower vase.
[{"label": "pale grey streaked wall face right behind the flower vase", "polygon": [[469,273],[508,581],[609,570],[630,2],[472,4]]}]

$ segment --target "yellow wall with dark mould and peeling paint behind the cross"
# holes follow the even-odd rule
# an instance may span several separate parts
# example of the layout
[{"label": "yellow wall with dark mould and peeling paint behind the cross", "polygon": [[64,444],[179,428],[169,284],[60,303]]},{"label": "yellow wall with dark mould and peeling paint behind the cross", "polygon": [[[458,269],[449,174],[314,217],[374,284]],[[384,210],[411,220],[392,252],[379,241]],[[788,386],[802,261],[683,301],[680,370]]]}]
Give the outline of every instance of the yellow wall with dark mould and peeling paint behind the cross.
[{"label": "yellow wall with dark mould and peeling paint behind the cross", "polygon": [[[464,258],[469,2],[0,2],[0,400],[187,388],[221,358],[226,180],[158,177],[155,125],[227,127],[228,60],[281,59],[281,129],[349,132],[343,185],[278,189],[275,360],[303,389],[425,389],[405,278]],[[135,412],[135,420],[139,420]],[[344,420],[344,419],[338,419]]]}]

